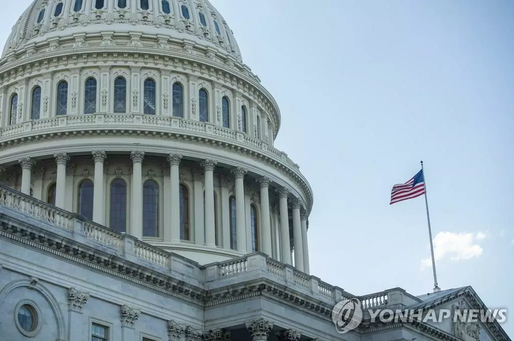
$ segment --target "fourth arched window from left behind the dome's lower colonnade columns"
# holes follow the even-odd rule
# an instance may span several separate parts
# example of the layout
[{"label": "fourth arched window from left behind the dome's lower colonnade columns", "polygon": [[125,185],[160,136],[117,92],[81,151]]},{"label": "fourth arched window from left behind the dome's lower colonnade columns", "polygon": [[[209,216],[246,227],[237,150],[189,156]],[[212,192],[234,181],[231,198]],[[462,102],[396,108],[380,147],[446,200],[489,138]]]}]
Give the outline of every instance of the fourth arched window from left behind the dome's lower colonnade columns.
[{"label": "fourth arched window from left behind the dome's lower colonnade columns", "polygon": [[154,180],[143,184],[143,237],[159,236],[159,186]]}]

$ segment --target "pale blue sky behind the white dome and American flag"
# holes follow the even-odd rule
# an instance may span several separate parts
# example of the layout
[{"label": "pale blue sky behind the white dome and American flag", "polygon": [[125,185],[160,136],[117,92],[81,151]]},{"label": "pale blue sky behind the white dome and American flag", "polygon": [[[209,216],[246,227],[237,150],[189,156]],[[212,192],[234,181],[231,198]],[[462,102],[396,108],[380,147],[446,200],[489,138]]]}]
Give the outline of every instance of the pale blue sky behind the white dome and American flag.
[{"label": "pale blue sky behind the white dome and American flag", "polygon": [[[4,4],[1,41],[29,3]],[[358,295],[432,290],[423,197],[389,205],[423,159],[439,286],[514,309],[514,2],[212,3],[314,190],[311,273]]]}]

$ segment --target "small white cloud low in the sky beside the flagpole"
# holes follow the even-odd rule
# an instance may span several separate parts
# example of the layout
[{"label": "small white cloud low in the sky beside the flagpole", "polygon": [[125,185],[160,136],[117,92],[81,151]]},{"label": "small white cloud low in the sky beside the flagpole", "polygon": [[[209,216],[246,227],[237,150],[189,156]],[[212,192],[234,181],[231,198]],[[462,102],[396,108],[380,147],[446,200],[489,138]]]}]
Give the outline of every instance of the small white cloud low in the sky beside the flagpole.
[{"label": "small white cloud low in the sky beside the flagpole", "polygon": [[[433,240],[435,260],[459,261],[478,257],[484,249],[476,243],[488,236],[488,231],[477,233],[439,232]],[[512,243],[514,243],[514,240],[512,240]],[[429,267],[432,267],[432,258],[421,259],[421,270]]]}]

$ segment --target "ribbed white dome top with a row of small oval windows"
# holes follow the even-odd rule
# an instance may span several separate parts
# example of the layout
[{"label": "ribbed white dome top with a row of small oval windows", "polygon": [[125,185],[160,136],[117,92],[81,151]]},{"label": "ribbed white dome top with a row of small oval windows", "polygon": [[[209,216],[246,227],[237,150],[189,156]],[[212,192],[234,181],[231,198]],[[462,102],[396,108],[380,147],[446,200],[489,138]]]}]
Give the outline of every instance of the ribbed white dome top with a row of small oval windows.
[{"label": "ribbed white dome top with a row of small oval windows", "polygon": [[232,31],[208,0],[34,0],[12,28],[3,56],[27,43],[105,31],[187,39],[242,61]]}]

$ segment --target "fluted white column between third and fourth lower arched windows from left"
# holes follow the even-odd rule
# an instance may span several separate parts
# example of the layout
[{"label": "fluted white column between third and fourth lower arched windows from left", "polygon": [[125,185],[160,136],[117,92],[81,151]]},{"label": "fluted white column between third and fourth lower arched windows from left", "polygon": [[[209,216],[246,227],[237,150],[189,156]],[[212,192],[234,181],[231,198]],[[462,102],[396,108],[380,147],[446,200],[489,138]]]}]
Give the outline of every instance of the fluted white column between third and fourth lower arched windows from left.
[{"label": "fluted white column between third and fourth lower arched windows from left", "polygon": [[131,229],[130,234],[141,239],[143,235],[143,174],[141,166],[144,152],[133,151],[132,159],[132,200],[131,200]]}]

